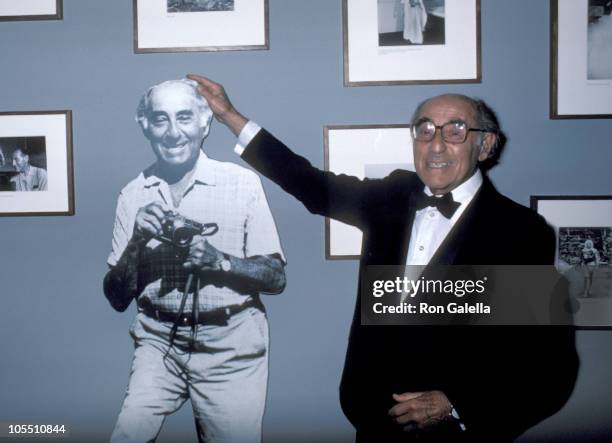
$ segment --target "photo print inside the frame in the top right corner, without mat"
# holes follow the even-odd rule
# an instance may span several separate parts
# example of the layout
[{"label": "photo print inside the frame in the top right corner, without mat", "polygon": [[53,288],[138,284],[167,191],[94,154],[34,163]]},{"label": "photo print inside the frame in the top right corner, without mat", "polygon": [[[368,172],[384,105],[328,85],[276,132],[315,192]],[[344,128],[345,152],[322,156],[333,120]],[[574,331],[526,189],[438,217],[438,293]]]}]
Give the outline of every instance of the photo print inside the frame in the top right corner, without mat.
[{"label": "photo print inside the frame in the top right corner, without mat", "polygon": [[587,78],[612,80],[612,0],[589,0]]}]

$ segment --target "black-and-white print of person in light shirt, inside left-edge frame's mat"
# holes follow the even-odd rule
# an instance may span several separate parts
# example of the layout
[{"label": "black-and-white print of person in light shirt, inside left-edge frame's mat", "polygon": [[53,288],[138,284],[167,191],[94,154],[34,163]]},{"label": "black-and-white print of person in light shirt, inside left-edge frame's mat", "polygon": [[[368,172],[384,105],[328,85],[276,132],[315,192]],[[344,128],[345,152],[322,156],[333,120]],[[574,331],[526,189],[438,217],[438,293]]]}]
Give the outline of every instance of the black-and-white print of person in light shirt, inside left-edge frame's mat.
[{"label": "black-and-white print of person in light shirt, inside left-edge frame's mat", "polygon": [[0,137],[0,191],[46,191],[45,137]]}]

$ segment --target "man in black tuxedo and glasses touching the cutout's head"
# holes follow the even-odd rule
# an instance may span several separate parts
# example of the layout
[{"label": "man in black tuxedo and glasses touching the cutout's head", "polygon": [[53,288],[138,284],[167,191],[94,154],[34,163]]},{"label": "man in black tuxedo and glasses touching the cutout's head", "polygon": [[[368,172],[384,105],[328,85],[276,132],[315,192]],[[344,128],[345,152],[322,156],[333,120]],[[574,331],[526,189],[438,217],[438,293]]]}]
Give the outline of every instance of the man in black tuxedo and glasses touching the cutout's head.
[{"label": "man in black tuxedo and glasses touching the cutout's head", "polygon": [[[242,158],[313,213],[363,231],[368,265],[548,265],[552,229],[502,196],[479,165],[503,140],[481,100],[447,94],[412,119],[416,174],[360,180],[314,168],[190,75]],[[512,441],[569,398],[578,358],[566,327],[368,326],[358,294],[340,386],[357,442]]]}]

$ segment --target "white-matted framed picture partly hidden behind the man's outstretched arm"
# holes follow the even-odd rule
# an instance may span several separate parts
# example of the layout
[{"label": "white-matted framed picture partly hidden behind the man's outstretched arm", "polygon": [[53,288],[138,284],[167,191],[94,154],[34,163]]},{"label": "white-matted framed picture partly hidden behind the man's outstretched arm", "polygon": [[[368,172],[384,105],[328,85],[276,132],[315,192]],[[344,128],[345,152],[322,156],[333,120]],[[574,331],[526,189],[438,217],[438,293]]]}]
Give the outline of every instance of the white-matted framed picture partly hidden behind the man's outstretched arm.
[{"label": "white-matted framed picture partly hidden behind the man's outstretched arm", "polygon": [[[410,125],[325,126],[325,170],[359,178],[383,178],[395,169],[414,171]],[[325,258],[359,259],[361,231],[325,219]]]}]

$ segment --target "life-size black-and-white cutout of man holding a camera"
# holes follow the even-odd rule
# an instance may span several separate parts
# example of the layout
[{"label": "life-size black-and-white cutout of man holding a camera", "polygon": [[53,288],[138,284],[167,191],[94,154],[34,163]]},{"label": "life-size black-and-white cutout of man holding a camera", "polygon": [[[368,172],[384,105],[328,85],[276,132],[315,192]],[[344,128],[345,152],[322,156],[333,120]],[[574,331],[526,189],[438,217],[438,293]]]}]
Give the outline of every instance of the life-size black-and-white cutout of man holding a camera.
[{"label": "life-size black-and-white cutout of man holding a camera", "polygon": [[[155,440],[189,398],[201,441],[259,442],[268,376],[259,294],[285,285],[261,183],[201,151],[212,113],[194,82],[153,86],[137,120],[156,162],[119,195],[104,279],[116,310],[133,298],[138,305],[130,381],[111,441]],[[206,227],[218,231],[204,238]]]}]

